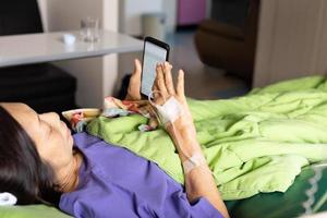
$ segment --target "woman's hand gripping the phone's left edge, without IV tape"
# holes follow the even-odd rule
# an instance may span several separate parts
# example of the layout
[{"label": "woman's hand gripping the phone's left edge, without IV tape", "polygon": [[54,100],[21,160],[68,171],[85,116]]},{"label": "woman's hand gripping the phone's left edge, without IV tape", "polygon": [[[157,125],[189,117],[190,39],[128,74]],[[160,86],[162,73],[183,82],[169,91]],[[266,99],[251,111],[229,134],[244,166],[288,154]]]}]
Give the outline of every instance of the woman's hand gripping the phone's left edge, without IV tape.
[{"label": "woman's hand gripping the phone's left edge, without IV tape", "polygon": [[134,60],[134,72],[130,78],[130,84],[128,88],[126,100],[141,100],[141,73],[142,66],[138,59]]}]

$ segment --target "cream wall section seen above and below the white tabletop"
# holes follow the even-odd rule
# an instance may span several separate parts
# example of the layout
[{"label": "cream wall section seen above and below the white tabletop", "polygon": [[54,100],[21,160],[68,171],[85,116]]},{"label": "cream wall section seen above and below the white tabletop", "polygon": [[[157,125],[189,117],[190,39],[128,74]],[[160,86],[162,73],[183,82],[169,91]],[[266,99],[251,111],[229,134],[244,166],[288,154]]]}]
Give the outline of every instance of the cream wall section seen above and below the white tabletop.
[{"label": "cream wall section seen above and below the white tabletop", "polygon": [[[39,0],[39,3],[44,26],[49,32],[78,29],[81,19],[86,16],[99,17],[101,27],[118,31],[119,0]],[[116,55],[56,64],[77,78],[76,101],[81,107],[101,107],[104,97],[114,92]]]}]

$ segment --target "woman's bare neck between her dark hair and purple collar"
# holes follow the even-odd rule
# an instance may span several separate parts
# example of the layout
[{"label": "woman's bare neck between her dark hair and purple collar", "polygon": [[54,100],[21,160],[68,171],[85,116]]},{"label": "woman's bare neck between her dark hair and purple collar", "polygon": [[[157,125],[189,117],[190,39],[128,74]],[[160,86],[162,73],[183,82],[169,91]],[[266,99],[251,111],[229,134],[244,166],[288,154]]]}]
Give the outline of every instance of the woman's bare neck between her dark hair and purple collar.
[{"label": "woman's bare neck between her dark hair and purple collar", "polygon": [[78,150],[74,150],[72,161],[57,173],[59,192],[72,192],[78,185],[78,169],[82,165],[83,156]]}]

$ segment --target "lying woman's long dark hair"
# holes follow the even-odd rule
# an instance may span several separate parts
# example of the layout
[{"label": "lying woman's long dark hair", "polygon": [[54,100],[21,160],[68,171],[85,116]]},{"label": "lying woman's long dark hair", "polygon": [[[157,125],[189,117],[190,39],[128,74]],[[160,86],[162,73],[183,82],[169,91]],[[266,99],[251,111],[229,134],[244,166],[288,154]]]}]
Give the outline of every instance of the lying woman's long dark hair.
[{"label": "lying woman's long dark hair", "polygon": [[35,143],[0,106],[0,193],[10,192],[17,204],[57,204],[55,173],[43,161]]}]

